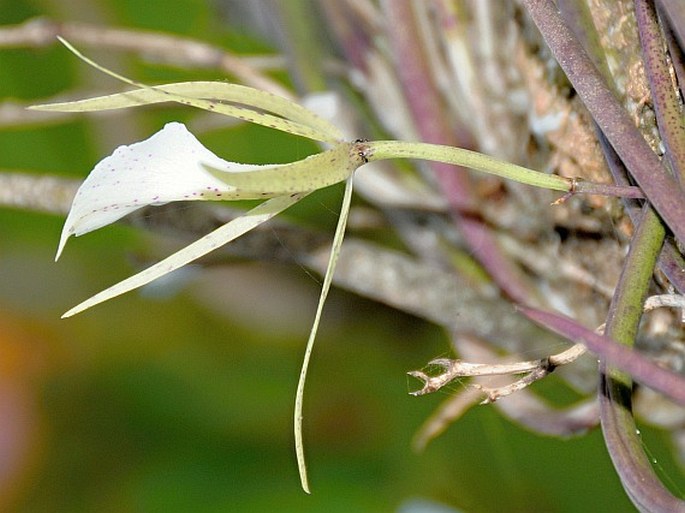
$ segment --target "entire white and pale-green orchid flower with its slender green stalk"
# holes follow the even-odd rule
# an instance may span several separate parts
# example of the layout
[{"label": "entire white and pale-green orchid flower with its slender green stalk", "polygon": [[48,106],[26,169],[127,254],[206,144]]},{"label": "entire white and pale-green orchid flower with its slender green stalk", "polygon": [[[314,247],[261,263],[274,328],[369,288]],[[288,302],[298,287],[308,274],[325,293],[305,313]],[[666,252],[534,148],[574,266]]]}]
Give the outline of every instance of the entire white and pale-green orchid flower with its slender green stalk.
[{"label": "entire white and pale-green orchid flower with its slender green stalk", "polygon": [[[460,148],[399,141],[346,142],[342,132],[335,125],[288,99],[225,82],[185,82],[147,86],[103,68],[81,55],[66,41],[61,41],[91,66],[135,86],[135,89],[75,102],[39,105],[33,107],[34,109],[88,112],[173,101],[330,145],[330,149],[326,151],[289,164],[238,164],[228,162],[202,146],[184,125],[169,123],[145,141],[117,148],[112,155],[95,166],[76,193],[57,249],[59,257],[71,235],[78,236],[101,228],[148,205],[187,200],[265,199],[257,207],[161,262],[75,306],[64,314],[64,317],[69,317],[160,278],[240,237],[297,203],[307,194],[344,181],[346,186],[340,218],[305,349],[295,399],[294,425],[298,469],[302,487],[308,493],[309,484],[302,443],[303,391],[323,305],[342,245],[352,198],[354,171],[369,161],[414,158],[469,167],[569,194],[594,190],[595,184],[589,182],[577,182],[540,173]],[[600,193],[608,193],[605,186],[599,188],[603,191]],[[625,194],[627,189],[619,192]]]}]

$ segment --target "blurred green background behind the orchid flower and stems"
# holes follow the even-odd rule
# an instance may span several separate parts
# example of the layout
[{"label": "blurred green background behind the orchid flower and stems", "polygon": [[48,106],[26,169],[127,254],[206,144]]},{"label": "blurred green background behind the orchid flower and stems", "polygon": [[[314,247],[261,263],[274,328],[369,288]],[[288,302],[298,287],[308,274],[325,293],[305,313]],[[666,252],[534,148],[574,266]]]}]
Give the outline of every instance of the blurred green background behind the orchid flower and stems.
[{"label": "blurred green background behind the orchid flower and stems", "polygon": [[[36,16],[271,51],[218,1],[0,0],[1,25]],[[86,53],[148,82],[227,78]],[[58,45],[2,49],[0,77],[2,101],[121,89]],[[195,115],[170,107],[4,127],[0,168],[83,178],[117,145]],[[313,149],[253,127],[199,135],[231,160],[288,160]],[[332,233],[339,197],[322,191],[300,215]],[[410,397],[416,384],[406,372],[447,354],[448,337],[340,291],[327,306],[305,396],[306,496],[291,419],[319,284],[296,263],[237,262],[193,273],[177,294],[132,293],[60,320],[132,274],[132,255],[152,244],[149,234],[109,227],[72,240],[55,264],[62,222],[0,210],[1,511],[440,511],[420,510],[410,502],[417,498],[469,512],[633,509],[598,431],[540,438],[478,407],[423,454],[412,452],[412,436],[447,394]],[[559,388],[554,378],[537,386]],[[665,436],[644,437],[659,472],[682,482]]]}]

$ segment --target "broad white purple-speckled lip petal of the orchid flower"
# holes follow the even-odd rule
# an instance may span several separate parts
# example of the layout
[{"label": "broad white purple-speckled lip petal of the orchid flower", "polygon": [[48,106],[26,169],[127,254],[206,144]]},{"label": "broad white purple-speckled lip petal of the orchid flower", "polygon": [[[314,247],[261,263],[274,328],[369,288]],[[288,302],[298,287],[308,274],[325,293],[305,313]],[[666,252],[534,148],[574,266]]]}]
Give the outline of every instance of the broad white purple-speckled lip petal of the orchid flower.
[{"label": "broad white purple-speckled lip petal of the orchid flower", "polygon": [[205,148],[185,125],[169,123],[145,141],[120,146],[95,166],[74,197],[56,258],[69,236],[101,228],[147,205],[242,197],[202,164],[231,172],[264,167],[225,161]]}]

